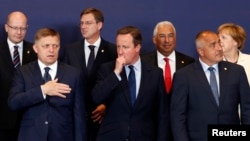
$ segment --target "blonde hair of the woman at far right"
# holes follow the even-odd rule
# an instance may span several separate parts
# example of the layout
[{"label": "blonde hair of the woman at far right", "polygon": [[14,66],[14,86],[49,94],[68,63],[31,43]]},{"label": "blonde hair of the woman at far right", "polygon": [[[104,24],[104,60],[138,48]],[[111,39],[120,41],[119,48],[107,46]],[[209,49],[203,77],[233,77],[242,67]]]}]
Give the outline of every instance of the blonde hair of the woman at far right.
[{"label": "blonde hair of the woman at far right", "polygon": [[243,27],[233,23],[225,23],[219,26],[218,33],[220,32],[227,33],[238,43],[238,49],[243,49],[247,36]]}]

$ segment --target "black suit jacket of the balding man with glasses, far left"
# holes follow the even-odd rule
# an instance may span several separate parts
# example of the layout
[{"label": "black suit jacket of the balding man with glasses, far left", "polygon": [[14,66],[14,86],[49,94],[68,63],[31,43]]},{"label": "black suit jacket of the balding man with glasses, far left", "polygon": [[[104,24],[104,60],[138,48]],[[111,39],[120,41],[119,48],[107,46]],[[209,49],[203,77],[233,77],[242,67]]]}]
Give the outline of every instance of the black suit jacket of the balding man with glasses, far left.
[{"label": "black suit jacket of the balding man with glasses, far left", "polygon": [[[23,41],[22,64],[37,59],[33,44]],[[8,96],[15,68],[7,40],[0,44],[0,129],[13,129],[18,126],[18,114],[8,108]]]}]

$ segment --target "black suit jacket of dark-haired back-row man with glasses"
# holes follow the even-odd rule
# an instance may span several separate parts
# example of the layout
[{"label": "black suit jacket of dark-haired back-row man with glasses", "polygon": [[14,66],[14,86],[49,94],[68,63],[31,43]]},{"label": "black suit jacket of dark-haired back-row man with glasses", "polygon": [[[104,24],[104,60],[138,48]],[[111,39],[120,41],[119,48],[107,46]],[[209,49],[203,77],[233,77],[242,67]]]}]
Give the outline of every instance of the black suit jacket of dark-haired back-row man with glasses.
[{"label": "black suit jacket of dark-haired back-row man with glasses", "polygon": [[90,91],[96,83],[97,71],[101,64],[109,61],[113,61],[117,58],[116,46],[101,38],[99,50],[97,52],[91,74],[88,74],[85,52],[84,52],[84,39],[77,41],[65,47],[65,54],[63,61],[71,66],[74,66],[83,71],[85,81],[87,82],[87,113],[91,115],[91,112],[96,108],[93,104]]}]

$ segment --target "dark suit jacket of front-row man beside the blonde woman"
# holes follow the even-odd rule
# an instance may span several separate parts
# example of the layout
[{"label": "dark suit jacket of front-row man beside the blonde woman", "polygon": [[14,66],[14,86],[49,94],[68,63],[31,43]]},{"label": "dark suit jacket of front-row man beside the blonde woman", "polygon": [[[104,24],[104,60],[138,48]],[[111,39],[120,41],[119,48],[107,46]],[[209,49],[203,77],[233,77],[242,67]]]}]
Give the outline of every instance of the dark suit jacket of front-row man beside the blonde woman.
[{"label": "dark suit jacket of front-row man beside the blonde woman", "polygon": [[219,107],[205,72],[196,61],[177,71],[173,79],[170,106],[175,141],[207,141],[209,124],[250,124],[250,88],[243,67],[220,62]]}]

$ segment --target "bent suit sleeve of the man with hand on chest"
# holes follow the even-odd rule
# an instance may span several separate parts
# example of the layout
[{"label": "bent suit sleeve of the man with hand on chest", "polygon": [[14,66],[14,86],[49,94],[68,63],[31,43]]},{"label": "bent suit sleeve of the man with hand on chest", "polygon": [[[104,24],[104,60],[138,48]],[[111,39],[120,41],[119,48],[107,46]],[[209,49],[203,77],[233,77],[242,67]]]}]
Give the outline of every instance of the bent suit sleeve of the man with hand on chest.
[{"label": "bent suit sleeve of the man with hand on chest", "polygon": [[28,82],[24,79],[24,73],[27,72],[22,72],[19,68],[15,71],[13,76],[12,87],[8,99],[9,107],[12,110],[23,110],[44,101],[40,85],[34,86],[28,90],[25,89]]}]

